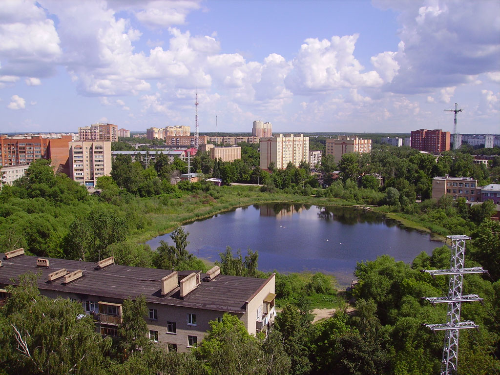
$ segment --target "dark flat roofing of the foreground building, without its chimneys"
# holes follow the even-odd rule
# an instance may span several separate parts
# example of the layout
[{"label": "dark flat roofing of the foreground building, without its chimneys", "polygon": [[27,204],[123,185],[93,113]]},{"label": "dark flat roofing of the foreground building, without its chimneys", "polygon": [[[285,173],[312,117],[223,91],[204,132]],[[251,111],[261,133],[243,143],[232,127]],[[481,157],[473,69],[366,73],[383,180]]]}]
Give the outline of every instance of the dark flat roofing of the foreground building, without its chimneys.
[{"label": "dark flat roofing of the foreground building, without its chimneys", "polygon": [[[201,284],[184,298],[179,296],[178,286],[165,296],[161,296],[160,280],[171,273],[171,270],[119,264],[111,264],[99,269],[96,263],[92,262],[44,257],[50,264],[45,268],[36,266],[37,258],[37,256],[18,255],[4,259],[4,254],[0,253],[0,259],[2,259],[0,284],[16,285],[19,275],[26,272],[40,272],[41,275],[37,277],[40,290],[118,299],[127,297],[133,299],[143,294],[148,302],[243,313],[245,301],[250,300],[255,292],[267,282],[262,278],[219,274],[211,281],[202,280]],[[83,276],[68,284],[63,283],[63,277],[52,282],[47,281],[49,273],[61,268],[66,268],[68,273],[82,269]],[[178,275],[187,276],[191,272],[193,271],[179,271]],[[202,279],[205,276],[205,273],[201,273]],[[11,279],[15,281],[11,282]]]}]

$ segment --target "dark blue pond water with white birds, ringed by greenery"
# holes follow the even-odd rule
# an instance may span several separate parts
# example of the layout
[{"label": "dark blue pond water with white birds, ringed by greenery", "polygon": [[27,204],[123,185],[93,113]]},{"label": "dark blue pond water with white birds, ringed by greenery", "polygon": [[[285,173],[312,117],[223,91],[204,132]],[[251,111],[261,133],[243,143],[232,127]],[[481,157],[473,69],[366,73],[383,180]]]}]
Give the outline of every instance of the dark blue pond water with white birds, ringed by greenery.
[{"label": "dark blue pond water with white birds, ringed by greenery", "polygon": [[[388,254],[411,262],[442,243],[429,234],[401,227],[375,212],[352,207],[304,204],[254,204],[185,225],[187,249],[194,255],[220,260],[218,253],[231,246],[258,251],[258,269],[279,272],[321,271],[349,284],[357,261]],[[152,249],[160,240],[173,244],[169,233],[147,242]]]}]

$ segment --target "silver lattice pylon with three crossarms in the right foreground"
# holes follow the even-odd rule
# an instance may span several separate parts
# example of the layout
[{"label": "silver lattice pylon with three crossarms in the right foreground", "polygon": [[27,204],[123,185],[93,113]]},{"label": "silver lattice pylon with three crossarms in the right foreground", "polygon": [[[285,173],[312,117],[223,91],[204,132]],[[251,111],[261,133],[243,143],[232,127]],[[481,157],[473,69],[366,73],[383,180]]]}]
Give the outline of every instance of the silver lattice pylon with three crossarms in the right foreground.
[{"label": "silver lattice pylon with three crossarms in the right foreground", "polygon": [[464,268],[466,235],[448,235],[451,239],[450,269],[422,269],[422,272],[435,275],[449,275],[448,295],[445,297],[422,297],[432,305],[447,303],[447,321],[444,324],[424,324],[432,331],[445,330],[442,347],[441,375],[456,375],[458,367],[458,332],[460,329],[478,328],[473,321],[460,321],[460,306],[462,302],[480,301],[477,294],[462,295],[463,275],[469,273],[485,273],[481,267]]}]

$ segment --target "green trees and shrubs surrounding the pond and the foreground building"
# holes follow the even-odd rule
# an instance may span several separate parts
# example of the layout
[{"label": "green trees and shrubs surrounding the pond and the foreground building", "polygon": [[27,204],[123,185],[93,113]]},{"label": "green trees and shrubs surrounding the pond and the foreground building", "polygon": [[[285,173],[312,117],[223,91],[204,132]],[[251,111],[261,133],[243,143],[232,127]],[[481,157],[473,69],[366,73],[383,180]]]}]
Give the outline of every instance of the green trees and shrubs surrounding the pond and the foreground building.
[{"label": "green trees and shrubs surrounding the pond and the foreground building", "polygon": [[[474,320],[479,328],[460,334],[459,373],[500,372],[500,224],[489,219],[494,207],[429,199],[435,175],[498,182],[498,156],[480,166],[466,152],[448,152],[436,161],[407,147],[383,146],[370,154],[344,155],[338,163],[324,157],[319,172],[340,174],[321,187],[308,164],[268,173],[258,168],[254,146],[242,146],[242,159],[232,163],[206,154],[194,158],[194,170],[220,176],[225,183],[220,187],[205,181],[172,185],[172,174],[184,171],[181,160],[170,163],[156,155],[155,163],[144,167],[118,156],[111,176],[98,180],[100,193],[88,194],[65,175],[54,174],[47,160],[38,160],[26,176],[0,192],[2,248],[88,261],[113,254],[120,264],[206,269],[185,250],[188,237],[180,226],[196,217],[264,201],[377,205],[374,209],[384,214],[439,235],[471,236],[466,264],[481,265],[489,274],[464,277],[463,293],[484,299],[462,306],[462,320]],[[232,181],[262,186],[228,186]],[[153,252],[141,244],[175,228],[175,245],[163,243]],[[258,249],[253,250],[244,256],[231,249],[222,252],[222,272],[265,277],[257,271]],[[124,303],[119,339],[102,337],[90,319],[75,319],[83,314],[81,304],[40,295],[35,276],[26,274],[18,286],[8,287],[9,297],[0,307],[0,374],[438,373],[444,334],[421,324],[444,322],[446,309],[421,297],[447,294],[447,278],[420,270],[447,268],[449,258],[449,247],[441,246],[431,255],[422,252],[411,264],[388,256],[360,262],[354,271],[359,283],[346,295],[354,310],[339,300],[333,317],[314,324],[310,310],[316,297],[336,294],[331,280],[320,273],[306,282],[278,274],[281,311],[267,336],[248,335],[234,316],[224,315],[188,353],[167,353],[147,338],[142,298]]]}]

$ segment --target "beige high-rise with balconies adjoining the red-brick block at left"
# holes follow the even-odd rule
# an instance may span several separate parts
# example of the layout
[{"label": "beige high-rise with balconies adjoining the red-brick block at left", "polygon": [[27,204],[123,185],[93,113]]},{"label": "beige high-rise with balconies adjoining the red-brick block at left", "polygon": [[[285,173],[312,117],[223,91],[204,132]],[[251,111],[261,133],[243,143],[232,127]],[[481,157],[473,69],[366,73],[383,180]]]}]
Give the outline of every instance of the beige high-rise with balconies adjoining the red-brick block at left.
[{"label": "beige high-rise with balconies adjoining the red-brick block at left", "polygon": [[69,142],[69,177],[85,186],[111,173],[111,142]]}]

